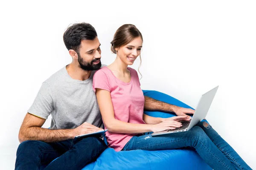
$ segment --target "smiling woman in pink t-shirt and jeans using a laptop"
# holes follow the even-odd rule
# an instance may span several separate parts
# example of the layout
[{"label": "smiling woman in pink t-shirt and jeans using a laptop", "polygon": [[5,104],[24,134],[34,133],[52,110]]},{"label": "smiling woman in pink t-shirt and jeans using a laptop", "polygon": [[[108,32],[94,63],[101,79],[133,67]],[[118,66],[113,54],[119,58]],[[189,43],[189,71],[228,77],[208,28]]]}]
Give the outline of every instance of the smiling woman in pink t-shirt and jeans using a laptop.
[{"label": "smiling woman in pink t-shirt and jeans using a laptop", "polygon": [[139,77],[134,69],[128,67],[140,56],[142,44],[142,34],[134,25],[125,24],[118,28],[111,42],[116,60],[93,77],[93,89],[105,129],[108,129],[106,138],[109,146],[116,151],[193,147],[215,170],[251,169],[206,122],[198,123],[187,132],[169,136],[143,135],[180,127],[180,121],[186,120],[186,116],[163,119],[143,114],[144,96]]}]

